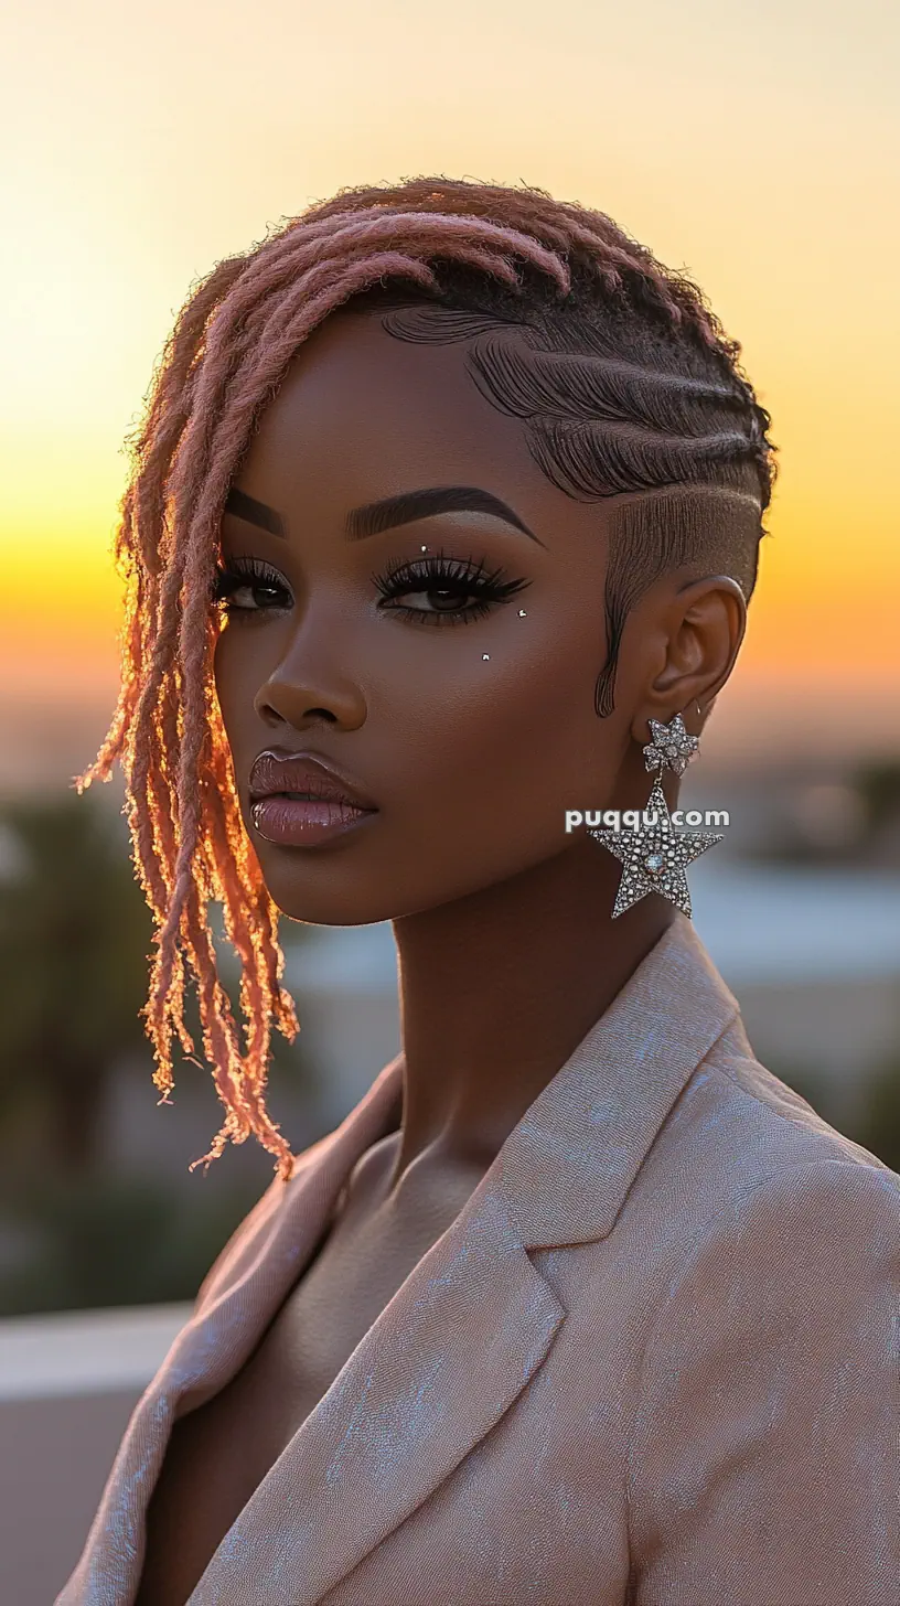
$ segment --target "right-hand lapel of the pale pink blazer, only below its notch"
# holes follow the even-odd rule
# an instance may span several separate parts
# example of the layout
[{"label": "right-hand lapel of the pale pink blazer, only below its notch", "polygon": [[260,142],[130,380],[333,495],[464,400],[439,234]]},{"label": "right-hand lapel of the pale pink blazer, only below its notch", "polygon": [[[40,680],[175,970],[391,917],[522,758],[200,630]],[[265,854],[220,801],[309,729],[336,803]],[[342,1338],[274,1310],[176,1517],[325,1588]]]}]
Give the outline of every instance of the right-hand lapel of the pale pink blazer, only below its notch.
[{"label": "right-hand lapel of the pale pink blazer, only below its notch", "polygon": [[564,1314],[484,1177],[294,1434],[188,1606],[320,1601],[503,1416]]}]

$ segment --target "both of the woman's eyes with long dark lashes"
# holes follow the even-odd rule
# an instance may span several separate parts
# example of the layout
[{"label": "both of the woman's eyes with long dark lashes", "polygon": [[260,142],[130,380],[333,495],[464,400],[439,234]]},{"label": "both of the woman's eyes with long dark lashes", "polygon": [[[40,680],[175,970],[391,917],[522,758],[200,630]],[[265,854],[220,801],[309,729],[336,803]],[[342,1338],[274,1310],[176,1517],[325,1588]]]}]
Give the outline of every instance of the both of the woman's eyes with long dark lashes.
[{"label": "both of the woman's eyes with long dark lashes", "polygon": [[[379,609],[397,613],[415,625],[456,625],[484,618],[493,607],[509,602],[526,586],[524,578],[509,578],[503,569],[490,569],[484,559],[429,557],[391,564],[373,573],[379,593]],[[239,602],[238,594],[268,594],[268,601]],[[415,602],[402,602],[402,597]],[[211,588],[211,601],[230,618],[284,612],[292,597],[276,569],[257,557],[233,557],[223,564]]]}]

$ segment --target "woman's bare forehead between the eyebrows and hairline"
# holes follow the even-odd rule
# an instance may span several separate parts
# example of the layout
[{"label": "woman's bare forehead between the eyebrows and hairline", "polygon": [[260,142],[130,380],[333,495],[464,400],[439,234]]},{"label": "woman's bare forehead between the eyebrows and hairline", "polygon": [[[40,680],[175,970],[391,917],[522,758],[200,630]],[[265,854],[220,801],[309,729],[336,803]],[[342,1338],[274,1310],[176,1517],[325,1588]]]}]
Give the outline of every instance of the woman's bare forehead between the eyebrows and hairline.
[{"label": "woman's bare forehead between the eyebrows and hairline", "polygon": [[275,507],[302,498],[338,511],[464,483],[524,501],[535,517],[574,511],[534,463],[522,422],[481,395],[466,350],[399,340],[379,313],[333,315],[262,414],[241,487]]}]

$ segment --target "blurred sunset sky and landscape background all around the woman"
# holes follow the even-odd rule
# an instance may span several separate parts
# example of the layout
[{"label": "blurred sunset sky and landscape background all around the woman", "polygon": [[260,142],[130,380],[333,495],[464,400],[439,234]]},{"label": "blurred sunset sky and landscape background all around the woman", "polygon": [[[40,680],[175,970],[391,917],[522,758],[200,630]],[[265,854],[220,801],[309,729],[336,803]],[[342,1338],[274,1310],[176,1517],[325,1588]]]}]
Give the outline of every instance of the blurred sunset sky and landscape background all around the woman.
[{"label": "blurred sunset sky and landscape background all around the woman", "polygon": [[[71,781],[116,702],[122,442],[177,308],[214,262],[342,185],[444,172],[599,207],[742,340],[781,474],[742,658],[686,777],[686,806],[731,811],[691,874],[696,925],[763,1063],[900,1169],[898,14],[887,0],[6,11],[3,1600],[45,1603],[68,1575],[133,1400],[272,1177],[254,1143],[188,1172],[220,1107],[180,1052],[174,1103],[156,1103],[121,777],[82,798]],[[302,1031],[275,1041],[270,1103],[297,1152],[394,1055],[395,965],[389,928],[281,935]]]}]

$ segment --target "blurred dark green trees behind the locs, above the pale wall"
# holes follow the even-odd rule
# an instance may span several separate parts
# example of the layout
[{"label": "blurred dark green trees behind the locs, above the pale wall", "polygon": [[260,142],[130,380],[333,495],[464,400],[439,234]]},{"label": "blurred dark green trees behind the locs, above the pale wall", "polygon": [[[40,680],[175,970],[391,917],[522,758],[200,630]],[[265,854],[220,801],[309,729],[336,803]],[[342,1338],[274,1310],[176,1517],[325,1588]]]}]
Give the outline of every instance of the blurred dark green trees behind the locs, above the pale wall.
[{"label": "blurred dark green trees behind the locs, above the pale wall", "polygon": [[[108,1147],[116,1078],[135,1060],[148,1079],[153,1068],[140,1013],[153,917],[121,798],[112,782],[0,800],[0,1317],[193,1299],[272,1180],[270,1156],[248,1145],[209,1177],[196,1172],[188,1200],[183,1179],[122,1169]],[[209,915],[236,1015],[239,965],[220,907]],[[291,946],[310,935],[294,922],[286,931]],[[185,1020],[199,1044],[193,988]],[[304,1046],[275,1033],[272,1071],[294,1099],[302,1087],[313,1142],[318,1074]],[[202,1082],[212,1134],[220,1111]]]}]

